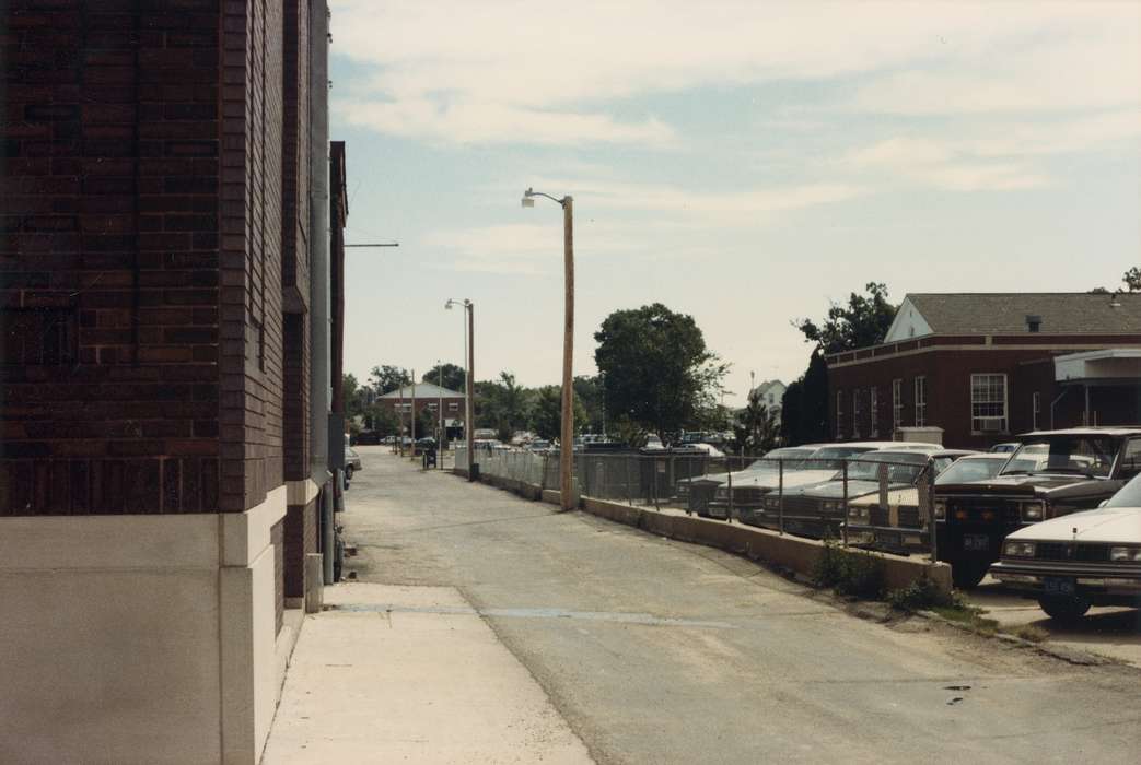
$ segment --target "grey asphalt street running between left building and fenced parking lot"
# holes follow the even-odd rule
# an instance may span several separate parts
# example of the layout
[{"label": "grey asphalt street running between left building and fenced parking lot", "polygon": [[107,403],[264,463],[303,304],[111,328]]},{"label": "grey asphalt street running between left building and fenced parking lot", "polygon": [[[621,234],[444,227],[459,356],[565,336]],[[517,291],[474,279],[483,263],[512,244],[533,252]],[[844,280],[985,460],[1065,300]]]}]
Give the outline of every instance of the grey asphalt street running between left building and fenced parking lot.
[{"label": "grey asphalt street running between left building and fenced parking lot", "polygon": [[748,561],[386,447],[341,515],[361,581],[451,586],[599,763],[1135,762],[1141,673],[882,625]]}]

